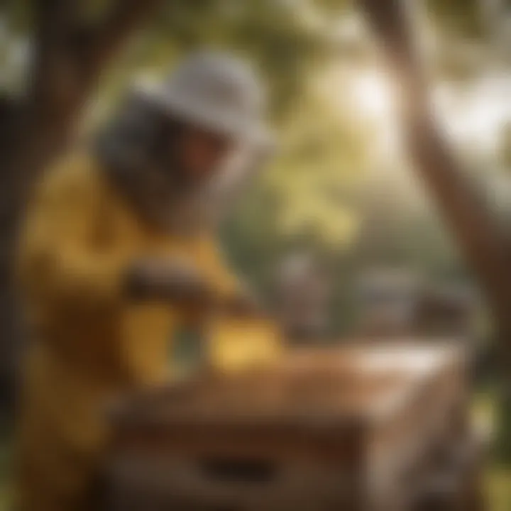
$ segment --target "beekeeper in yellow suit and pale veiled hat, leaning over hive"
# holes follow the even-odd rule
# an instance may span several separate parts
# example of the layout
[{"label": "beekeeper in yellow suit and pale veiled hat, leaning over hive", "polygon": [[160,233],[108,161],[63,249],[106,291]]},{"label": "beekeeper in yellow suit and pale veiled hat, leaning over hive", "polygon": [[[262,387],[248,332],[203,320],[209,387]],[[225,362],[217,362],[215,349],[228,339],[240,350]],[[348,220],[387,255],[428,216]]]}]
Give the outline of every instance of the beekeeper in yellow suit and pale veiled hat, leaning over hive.
[{"label": "beekeeper in yellow suit and pale veiled hat, leaning over hive", "polygon": [[106,403],[168,377],[183,322],[220,302],[251,307],[214,227],[268,154],[264,111],[245,63],[193,55],[163,87],[131,91],[35,189],[18,261],[31,339],[16,510],[95,509]]}]

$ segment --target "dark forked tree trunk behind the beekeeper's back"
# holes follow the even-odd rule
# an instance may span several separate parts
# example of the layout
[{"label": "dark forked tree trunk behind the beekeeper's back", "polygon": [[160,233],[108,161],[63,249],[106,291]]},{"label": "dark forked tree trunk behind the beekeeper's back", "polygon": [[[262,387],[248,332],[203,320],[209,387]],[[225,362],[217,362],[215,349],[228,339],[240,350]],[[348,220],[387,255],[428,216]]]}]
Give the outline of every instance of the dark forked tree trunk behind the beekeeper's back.
[{"label": "dark forked tree trunk behind the beekeeper's back", "polygon": [[34,0],[35,57],[23,101],[0,98],[0,414],[15,400],[22,326],[14,280],[16,235],[40,173],[72,141],[101,70],[163,0],[113,0],[94,26],[80,0]]}]

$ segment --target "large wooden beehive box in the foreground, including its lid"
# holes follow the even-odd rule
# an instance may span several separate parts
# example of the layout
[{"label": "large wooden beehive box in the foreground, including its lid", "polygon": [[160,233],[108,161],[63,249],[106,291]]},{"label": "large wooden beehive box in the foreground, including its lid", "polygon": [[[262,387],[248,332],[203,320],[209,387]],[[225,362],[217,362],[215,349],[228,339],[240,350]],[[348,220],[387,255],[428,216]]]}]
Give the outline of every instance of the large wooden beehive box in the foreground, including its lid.
[{"label": "large wooden beehive box in the foreground, including its lid", "polygon": [[110,509],[406,509],[429,454],[463,434],[464,367],[452,346],[303,350],[128,400]]}]

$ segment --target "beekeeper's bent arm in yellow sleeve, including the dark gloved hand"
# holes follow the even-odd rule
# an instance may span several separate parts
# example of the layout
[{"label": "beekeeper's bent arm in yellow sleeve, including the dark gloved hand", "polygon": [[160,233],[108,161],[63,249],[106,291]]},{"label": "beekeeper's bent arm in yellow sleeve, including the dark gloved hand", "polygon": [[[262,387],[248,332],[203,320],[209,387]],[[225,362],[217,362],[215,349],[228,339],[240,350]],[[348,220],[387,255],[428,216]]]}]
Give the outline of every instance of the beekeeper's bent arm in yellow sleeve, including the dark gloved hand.
[{"label": "beekeeper's bent arm in yellow sleeve, including the dark gloved hand", "polygon": [[[87,314],[120,300],[216,306],[236,279],[204,245],[200,270],[171,258],[131,260],[129,239],[112,222],[111,198],[87,172],[57,169],[31,204],[21,243],[26,288],[48,310]],[[183,264],[185,263],[185,264]]]}]

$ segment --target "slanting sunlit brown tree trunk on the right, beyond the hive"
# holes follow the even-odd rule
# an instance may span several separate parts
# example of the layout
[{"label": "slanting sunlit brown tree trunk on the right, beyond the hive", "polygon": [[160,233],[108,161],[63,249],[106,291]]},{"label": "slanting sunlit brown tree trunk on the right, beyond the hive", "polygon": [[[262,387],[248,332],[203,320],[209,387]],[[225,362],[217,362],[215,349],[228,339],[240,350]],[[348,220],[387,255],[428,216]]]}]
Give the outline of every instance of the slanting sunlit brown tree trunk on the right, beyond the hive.
[{"label": "slanting sunlit brown tree trunk on the right, beyond the hive", "polygon": [[471,266],[495,317],[501,362],[500,449],[511,460],[511,265],[509,245],[476,185],[454,158],[429,105],[414,38],[412,2],[358,0],[399,84],[408,152]]}]

